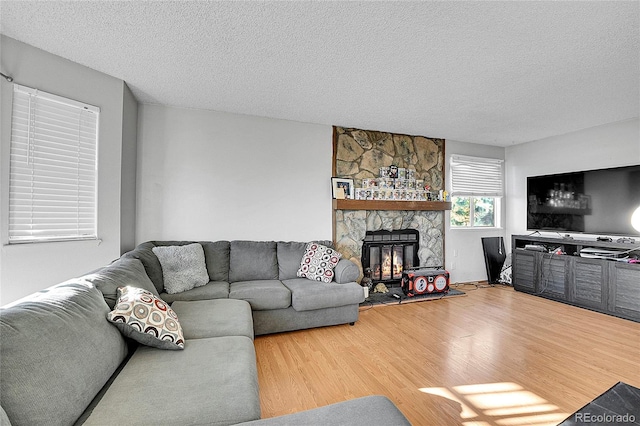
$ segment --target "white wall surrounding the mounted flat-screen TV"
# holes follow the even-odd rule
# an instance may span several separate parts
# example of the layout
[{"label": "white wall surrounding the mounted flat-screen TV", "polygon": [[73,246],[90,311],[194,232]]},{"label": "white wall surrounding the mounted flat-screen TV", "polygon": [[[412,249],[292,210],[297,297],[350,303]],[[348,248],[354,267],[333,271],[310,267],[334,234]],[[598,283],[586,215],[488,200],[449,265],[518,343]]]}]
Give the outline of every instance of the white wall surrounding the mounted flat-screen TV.
[{"label": "white wall surrounding the mounted flat-screen TV", "polygon": [[527,233],[528,176],[633,164],[640,164],[638,119],[507,147],[507,235]]}]

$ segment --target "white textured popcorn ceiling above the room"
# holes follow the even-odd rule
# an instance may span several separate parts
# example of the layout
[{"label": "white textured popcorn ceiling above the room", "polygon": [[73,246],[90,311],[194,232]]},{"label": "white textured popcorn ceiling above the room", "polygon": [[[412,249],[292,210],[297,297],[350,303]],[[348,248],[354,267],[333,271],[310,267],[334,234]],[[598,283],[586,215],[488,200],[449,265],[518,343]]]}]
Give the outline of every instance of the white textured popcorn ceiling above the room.
[{"label": "white textured popcorn ceiling above the room", "polygon": [[638,117],[639,21],[638,1],[0,1],[0,32],[143,103],[495,145]]}]

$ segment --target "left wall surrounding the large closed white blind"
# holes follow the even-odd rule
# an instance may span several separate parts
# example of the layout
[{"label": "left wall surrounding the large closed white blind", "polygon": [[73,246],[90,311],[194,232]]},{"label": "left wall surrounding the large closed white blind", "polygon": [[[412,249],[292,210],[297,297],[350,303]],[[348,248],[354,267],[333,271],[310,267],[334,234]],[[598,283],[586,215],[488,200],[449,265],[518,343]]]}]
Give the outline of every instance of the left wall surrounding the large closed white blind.
[{"label": "left wall surrounding the large closed white blind", "polygon": [[0,305],[105,265],[120,255],[122,80],[1,36],[2,72],[15,83],[100,107],[98,241],[8,245],[13,84],[0,82]]}]

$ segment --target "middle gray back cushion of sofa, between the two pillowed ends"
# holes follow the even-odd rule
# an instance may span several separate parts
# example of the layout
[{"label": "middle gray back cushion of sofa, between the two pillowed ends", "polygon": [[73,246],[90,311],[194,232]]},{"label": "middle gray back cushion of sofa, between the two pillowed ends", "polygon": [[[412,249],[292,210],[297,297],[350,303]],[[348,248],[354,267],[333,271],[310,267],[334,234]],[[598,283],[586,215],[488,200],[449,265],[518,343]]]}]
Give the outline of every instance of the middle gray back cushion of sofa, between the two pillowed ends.
[{"label": "middle gray back cushion of sofa, between the two pillowed ends", "polygon": [[277,279],[278,257],[274,241],[231,241],[230,283]]}]

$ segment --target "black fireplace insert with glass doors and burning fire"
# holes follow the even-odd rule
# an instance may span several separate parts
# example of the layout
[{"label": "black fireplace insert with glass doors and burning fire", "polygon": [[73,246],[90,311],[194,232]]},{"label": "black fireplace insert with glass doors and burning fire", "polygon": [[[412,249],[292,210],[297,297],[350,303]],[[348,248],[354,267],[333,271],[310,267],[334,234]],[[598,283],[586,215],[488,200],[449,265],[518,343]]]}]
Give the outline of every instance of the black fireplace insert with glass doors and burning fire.
[{"label": "black fireplace insert with glass doors and burning fire", "polygon": [[371,270],[371,280],[394,283],[402,271],[419,266],[419,233],[415,229],[367,231],[362,244],[362,267]]}]

